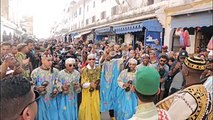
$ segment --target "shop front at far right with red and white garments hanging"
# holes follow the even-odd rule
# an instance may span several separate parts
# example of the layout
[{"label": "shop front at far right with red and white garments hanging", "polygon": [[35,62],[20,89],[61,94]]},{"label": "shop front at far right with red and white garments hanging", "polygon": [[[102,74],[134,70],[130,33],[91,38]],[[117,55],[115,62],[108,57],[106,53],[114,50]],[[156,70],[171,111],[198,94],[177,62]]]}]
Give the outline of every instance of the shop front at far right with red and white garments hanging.
[{"label": "shop front at far right with red and white garments hanging", "polygon": [[204,10],[172,15],[172,50],[185,47],[193,53],[196,48],[206,48],[213,36],[212,14],[213,10]]}]

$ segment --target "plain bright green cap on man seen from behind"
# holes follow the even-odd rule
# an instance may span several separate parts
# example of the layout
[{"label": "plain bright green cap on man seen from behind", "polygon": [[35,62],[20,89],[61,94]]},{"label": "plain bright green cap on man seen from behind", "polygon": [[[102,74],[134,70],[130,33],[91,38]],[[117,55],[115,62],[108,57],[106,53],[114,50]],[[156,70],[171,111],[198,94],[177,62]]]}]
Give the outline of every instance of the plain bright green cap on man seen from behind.
[{"label": "plain bright green cap on man seen from behind", "polygon": [[154,95],[160,87],[160,75],[153,67],[143,67],[136,72],[135,89],[142,95]]}]

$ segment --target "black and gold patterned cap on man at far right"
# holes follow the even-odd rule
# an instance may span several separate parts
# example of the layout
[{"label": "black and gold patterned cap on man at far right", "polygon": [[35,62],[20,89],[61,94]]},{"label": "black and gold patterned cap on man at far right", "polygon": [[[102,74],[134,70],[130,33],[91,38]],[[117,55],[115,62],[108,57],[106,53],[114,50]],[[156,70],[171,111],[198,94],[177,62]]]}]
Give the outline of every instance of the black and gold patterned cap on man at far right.
[{"label": "black and gold patterned cap on man at far right", "polygon": [[198,56],[188,57],[184,60],[184,64],[193,70],[203,71],[206,69],[206,61]]}]

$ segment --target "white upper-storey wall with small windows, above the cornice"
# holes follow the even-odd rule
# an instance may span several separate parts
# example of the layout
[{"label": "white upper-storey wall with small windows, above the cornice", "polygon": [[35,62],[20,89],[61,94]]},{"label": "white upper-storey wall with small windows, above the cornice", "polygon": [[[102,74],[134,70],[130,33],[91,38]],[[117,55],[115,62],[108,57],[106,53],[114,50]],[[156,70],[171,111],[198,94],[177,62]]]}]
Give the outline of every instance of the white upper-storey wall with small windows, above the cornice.
[{"label": "white upper-storey wall with small windows, above the cornice", "polygon": [[[70,6],[70,26],[71,31],[82,31],[85,27],[99,26],[111,21],[120,21],[121,18],[127,17],[142,9],[145,6],[151,6],[164,0],[153,0],[154,4],[148,4],[150,0],[79,0],[74,7]],[[79,14],[81,8],[81,14]],[[151,9],[154,9],[152,6]],[[146,13],[149,8],[143,12]],[[105,12],[105,17],[101,18],[101,14]],[[76,14],[77,13],[77,14]],[[95,16],[95,21],[93,17]],[[83,21],[83,22],[82,22]]]}]

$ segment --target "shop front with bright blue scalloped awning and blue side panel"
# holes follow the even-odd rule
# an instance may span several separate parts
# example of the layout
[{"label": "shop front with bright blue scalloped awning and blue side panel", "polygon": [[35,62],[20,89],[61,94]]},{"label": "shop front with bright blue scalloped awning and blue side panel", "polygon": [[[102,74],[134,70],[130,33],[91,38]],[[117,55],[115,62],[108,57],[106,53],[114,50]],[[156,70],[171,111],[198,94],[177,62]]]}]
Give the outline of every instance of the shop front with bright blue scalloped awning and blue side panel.
[{"label": "shop front with bright blue scalloped awning and blue side panel", "polygon": [[155,40],[163,43],[163,28],[157,19],[113,26],[113,31],[116,34],[117,41],[123,40],[127,44],[132,44],[133,48],[136,47],[138,42],[142,42],[145,46],[154,44]]}]

